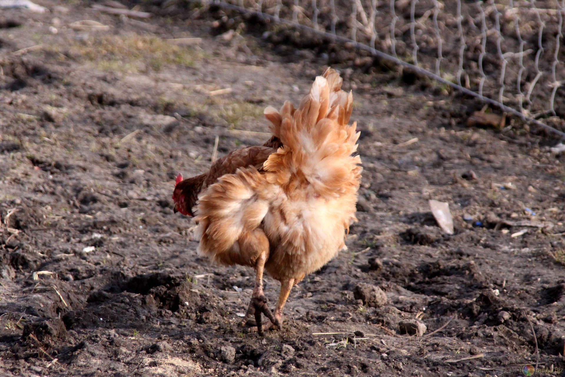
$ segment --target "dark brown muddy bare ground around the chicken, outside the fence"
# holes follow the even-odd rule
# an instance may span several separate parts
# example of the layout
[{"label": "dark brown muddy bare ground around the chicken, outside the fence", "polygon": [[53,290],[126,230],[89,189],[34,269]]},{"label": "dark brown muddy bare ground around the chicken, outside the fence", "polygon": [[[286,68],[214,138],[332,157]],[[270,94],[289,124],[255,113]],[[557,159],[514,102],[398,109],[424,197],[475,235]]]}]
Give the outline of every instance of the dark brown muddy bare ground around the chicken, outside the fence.
[{"label": "dark brown muddy bare ground around the chicken, outside the fence", "polygon": [[[556,140],[467,127],[481,103],[253,20],[40,3],[0,13],[2,376],[565,375]],[[328,64],[362,132],[359,222],[261,338],[239,326],[253,271],[198,257],[174,178],[205,171],[216,140],[219,156],[262,143],[263,108],[298,103]]]}]

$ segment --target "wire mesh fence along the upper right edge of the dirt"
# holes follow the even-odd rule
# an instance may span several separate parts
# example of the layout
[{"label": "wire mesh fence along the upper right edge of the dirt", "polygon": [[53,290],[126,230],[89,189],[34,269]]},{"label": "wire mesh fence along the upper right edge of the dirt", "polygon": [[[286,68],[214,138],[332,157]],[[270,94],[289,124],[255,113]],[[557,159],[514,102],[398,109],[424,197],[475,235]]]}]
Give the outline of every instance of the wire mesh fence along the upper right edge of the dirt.
[{"label": "wire mesh fence along the upper right edge of the dirt", "polygon": [[565,0],[200,0],[370,51],[565,139]]}]

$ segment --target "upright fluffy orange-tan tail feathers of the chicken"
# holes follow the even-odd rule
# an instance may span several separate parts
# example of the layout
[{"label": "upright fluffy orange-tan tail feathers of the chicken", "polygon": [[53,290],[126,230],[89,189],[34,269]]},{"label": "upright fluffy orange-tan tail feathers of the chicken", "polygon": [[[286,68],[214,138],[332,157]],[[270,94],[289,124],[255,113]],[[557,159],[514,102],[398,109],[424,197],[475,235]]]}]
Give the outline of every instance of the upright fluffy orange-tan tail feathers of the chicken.
[{"label": "upright fluffy orange-tan tail feathers of the chicken", "polygon": [[[264,163],[268,177],[289,189],[311,187],[316,194],[339,196],[357,190],[361,160],[357,151],[357,124],[348,125],[353,94],[341,90],[342,79],[328,68],[316,77],[298,109],[286,102],[280,112],[266,110],[283,147]],[[273,122],[274,120],[274,122]],[[302,179],[302,184],[290,180]]]}]

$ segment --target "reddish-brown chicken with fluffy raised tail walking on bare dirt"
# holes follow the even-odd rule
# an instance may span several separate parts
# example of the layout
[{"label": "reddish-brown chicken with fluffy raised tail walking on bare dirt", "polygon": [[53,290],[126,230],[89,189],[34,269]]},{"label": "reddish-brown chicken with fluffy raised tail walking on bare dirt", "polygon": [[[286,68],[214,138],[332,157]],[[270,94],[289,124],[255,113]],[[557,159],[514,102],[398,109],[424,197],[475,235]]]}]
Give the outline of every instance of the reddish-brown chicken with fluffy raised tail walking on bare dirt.
[{"label": "reddish-brown chicken with fluffy raised tail walking on bare dirt", "polygon": [[[268,327],[280,328],[293,285],[345,249],[349,226],[357,220],[362,167],[352,154],[359,133],[356,123],[348,125],[353,95],[341,84],[338,73],[327,68],[298,109],[286,101],[280,111],[264,110],[275,142],[233,151],[205,175],[177,178],[175,209],[192,215],[199,194],[194,218],[199,253],[255,269],[242,326],[254,316],[259,335],[262,313],[271,321]],[[264,271],[281,283],[274,314],[263,293]]]}]

